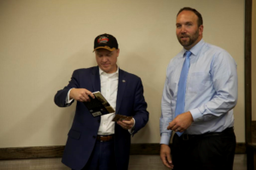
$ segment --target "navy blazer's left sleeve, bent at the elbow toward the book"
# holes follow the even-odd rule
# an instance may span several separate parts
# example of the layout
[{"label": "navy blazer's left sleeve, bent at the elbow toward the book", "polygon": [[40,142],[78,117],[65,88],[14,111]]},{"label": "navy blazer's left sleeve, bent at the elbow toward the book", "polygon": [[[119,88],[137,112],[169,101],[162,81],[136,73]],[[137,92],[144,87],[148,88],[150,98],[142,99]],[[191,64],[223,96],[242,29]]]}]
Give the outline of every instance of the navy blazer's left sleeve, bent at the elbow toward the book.
[{"label": "navy blazer's left sleeve, bent at the elbow toward the book", "polygon": [[68,85],[55,94],[55,105],[58,105],[59,107],[67,107],[73,104],[73,102],[71,104],[66,104],[67,93],[71,88],[79,88],[78,77],[78,71],[73,71],[73,75]]}]

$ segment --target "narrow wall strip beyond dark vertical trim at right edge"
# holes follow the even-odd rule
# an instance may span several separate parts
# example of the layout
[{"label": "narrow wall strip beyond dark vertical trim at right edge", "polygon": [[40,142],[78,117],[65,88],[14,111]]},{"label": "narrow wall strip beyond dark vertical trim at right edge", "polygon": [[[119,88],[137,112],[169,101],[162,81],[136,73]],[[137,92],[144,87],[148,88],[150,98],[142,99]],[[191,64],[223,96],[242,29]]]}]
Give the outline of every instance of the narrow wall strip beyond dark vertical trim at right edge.
[{"label": "narrow wall strip beyond dark vertical trim at right edge", "polygon": [[252,116],[256,121],[256,0],[253,0],[252,16]]}]

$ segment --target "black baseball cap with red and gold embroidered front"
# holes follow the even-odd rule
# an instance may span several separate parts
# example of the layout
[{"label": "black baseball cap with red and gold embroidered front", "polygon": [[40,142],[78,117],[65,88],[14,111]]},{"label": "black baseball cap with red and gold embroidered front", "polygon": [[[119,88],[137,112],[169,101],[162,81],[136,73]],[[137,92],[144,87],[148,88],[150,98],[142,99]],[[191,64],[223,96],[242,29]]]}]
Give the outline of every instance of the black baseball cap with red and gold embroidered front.
[{"label": "black baseball cap with red and gold embroidered front", "polygon": [[119,44],[115,37],[113,37],[110,34],[102,34],[95,38],[94,40],[94,50],[99,48],[105,48],[108,49],[108,51],[113,51],[114,49],[119,48]]}]

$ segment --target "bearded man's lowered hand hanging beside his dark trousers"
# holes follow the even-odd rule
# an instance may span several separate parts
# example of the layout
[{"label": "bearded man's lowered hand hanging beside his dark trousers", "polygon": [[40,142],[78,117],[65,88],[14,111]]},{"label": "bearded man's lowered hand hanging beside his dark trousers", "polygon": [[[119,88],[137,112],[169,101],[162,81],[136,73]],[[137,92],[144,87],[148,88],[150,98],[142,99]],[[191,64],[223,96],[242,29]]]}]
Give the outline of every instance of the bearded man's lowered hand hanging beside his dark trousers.
[{"label": "bearded man's lowered hand hanging beside his dark trousers", "polygon": [[171,158],[171,149],[167,144],[161,144],[160,158],[166,167],[169,167],[171,169],[173,168],[172,158]]}]

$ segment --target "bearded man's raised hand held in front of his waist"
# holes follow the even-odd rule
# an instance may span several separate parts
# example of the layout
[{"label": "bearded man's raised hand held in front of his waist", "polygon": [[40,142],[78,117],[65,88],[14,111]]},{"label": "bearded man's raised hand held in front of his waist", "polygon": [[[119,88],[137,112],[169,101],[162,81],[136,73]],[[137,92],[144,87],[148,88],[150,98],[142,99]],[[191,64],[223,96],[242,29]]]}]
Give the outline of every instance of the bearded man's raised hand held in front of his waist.
[{"label": "bearded man's raised hand held in front of his waist", "polygon": [[182,133],[191,125],[192,122],[193,117],[190,111],[187,111],[175,117],[172,122],[169,122],[167,129]]}]

